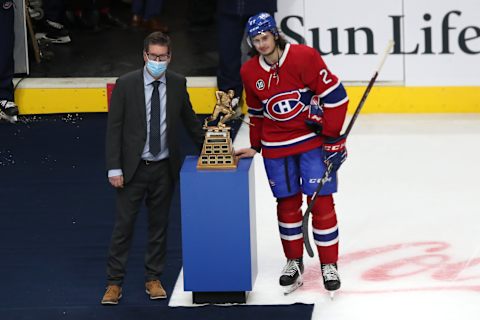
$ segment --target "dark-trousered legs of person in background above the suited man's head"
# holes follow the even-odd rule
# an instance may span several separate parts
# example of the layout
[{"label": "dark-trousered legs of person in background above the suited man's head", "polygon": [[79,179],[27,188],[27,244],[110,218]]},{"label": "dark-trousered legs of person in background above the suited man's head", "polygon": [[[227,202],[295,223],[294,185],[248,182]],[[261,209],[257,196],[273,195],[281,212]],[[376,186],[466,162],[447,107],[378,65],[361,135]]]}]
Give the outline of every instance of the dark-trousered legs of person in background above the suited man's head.
[{"label": "dark-trousered legs of person in background above the suited man's head", "polygon": [[168,26],[159,18],[162,6],[163,0],[132,0],[132,27],[168,32]]}]

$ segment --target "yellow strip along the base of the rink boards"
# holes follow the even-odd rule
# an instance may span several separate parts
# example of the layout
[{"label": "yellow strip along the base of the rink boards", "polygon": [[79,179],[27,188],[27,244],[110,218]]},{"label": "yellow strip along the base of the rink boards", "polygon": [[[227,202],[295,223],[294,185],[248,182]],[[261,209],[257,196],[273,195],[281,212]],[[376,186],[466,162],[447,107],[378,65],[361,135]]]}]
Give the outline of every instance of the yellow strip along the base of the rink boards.
[{"label": "yellow strip along the base of the rink boards", "polygon": [[[19,79],[16,79],[15,83]],[[20,114],[107,112],[116,78],[29,78],[20,81],[15,101]],[[188,77],[194,110],[209,114],[215,105],[215,77]],[[365,91],[366,83],[346,82],[350,112]],[[244,106],[244,112],[245,112]],[[362,113],[480,113],[476,86],[406,87],[379,82],[372,89]]]}]

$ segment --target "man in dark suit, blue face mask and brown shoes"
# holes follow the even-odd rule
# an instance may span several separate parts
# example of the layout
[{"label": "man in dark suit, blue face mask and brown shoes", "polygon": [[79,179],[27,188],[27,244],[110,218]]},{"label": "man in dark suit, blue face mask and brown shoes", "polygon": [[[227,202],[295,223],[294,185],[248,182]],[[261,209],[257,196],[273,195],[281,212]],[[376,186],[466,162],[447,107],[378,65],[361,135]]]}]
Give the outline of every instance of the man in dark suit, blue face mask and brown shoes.
[{"label": "man in dark suit, blue face mask and brown shoes", "polygon": [[117,213],[102,304],[117,304],[135,220],[143,199],[148,208],[145,289],[150,299],[167,297],[160,283],[165,265],[168,212],[181,159],[176,130],[184,124],[200,147],[203,130],[187,93],[185,77],[167,70],[170,39],[161,32],[144,41],[142,69],[120,77],[108,113],[108,179],[117,189]]}]

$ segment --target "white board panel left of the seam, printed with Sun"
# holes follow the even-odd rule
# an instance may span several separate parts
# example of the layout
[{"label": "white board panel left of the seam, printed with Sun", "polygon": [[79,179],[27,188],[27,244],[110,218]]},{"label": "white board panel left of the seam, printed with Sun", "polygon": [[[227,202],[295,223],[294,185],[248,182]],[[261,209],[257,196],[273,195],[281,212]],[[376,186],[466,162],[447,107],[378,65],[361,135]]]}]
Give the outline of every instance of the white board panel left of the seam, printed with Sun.
[{"label": "white board panel left of the seam, printed with Sun", "polygon": [[[276,19],[288,40],[319,50],[343,81],[368,81],[392,39],[392,15],[402,15],[401,0],[279,0]],[[379,80],[404,81],[400,55],[388,58]]]}]

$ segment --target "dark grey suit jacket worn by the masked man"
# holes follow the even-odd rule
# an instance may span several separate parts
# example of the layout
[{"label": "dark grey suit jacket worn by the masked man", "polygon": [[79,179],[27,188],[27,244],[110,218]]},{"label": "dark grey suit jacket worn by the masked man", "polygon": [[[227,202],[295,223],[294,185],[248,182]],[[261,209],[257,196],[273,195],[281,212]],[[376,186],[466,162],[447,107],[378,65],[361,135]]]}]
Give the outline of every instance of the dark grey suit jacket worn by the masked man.
[{"label": "dark grey suit jacket worn by the masked man", "polygon": [[[178,129],[183,122],[200,147],[203,129],[190,103],[184,76],[167,70],[167,144],[170,169],[178,179],[181,159]],[[141,160],[147,139],[143,68],[118,78],[110,100],[106,136],[107,170],[122,169],[128,183]]]}]

